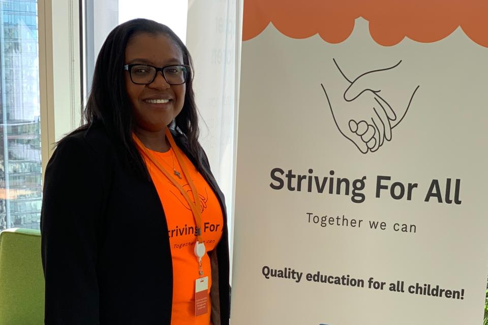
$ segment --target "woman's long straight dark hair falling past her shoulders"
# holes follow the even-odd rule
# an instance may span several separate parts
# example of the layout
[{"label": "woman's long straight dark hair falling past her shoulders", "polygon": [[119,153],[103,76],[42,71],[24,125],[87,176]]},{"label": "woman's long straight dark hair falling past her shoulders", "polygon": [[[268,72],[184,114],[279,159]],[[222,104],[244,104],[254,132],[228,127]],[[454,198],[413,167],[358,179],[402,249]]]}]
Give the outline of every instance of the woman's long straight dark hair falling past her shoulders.
[{"label": "woman's long straight dark hair falling past her shoulders", "polygon": [[[187,47],[166,25],[148,19],[133,19],[115,27],[100,49],[93,74],[92,90],[83,110],[85,127],[102,121],[109,135],[125,149],[127,158],[138,172],[147,175],[144,160],[132,139],[134,117],[131,102],[126,92],[124,59],[127,43],[136,35],[148,33],[165,34],[181,50],[183,63],[191,67],[186,82],[185,103],[174,120],[176,133],[184,136],[188,150],[201,170],[202,156],[198,144],[198,113],[193,91],[193,61]],[[83,126],[82,126],[83,128]]]}]

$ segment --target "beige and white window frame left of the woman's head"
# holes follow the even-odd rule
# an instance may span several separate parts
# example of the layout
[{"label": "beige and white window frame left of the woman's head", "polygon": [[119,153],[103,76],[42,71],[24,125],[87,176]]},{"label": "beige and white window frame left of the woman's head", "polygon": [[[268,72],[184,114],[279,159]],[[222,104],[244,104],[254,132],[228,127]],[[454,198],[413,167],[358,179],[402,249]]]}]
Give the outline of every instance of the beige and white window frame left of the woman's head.
[{"label": "beige and white window frame left of the woman's head", "polygon": [[78,0],[38,0],[43,177],[55,143],[81,123],[79,14]]}]

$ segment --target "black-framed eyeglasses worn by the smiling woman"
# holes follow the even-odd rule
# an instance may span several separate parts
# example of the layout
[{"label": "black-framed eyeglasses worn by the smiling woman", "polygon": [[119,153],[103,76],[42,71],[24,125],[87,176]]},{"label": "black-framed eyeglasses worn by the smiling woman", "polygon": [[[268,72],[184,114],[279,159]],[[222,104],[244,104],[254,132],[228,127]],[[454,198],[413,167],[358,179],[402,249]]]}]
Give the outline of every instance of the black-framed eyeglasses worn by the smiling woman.
[{"label": "black-framed eyeglasses worn by the smiling woman", "polygon": [[170,85],[181,85],[187,81],[190,66],[186,64],[173,64],[162,68],[150,66],[149,64],[126,64],[124,70],[131,74],[131,81],[138,85],[150,84],[156,79],[158,71]]}]

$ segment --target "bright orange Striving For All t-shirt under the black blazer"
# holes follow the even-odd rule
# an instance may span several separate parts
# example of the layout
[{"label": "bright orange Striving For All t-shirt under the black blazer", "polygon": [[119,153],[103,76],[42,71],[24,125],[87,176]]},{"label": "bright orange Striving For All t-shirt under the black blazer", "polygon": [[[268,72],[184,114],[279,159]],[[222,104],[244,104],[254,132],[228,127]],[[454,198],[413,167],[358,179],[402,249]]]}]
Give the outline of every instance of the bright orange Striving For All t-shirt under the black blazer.
[{"label": "bright orange Striving For All t-shirt under the black blazer", "polygon": [[[190,199],[193,200],[193,193],[188,185],[176,155],[171,148],[167,152],[146,150],[153,155],[171,176],[174,176],[178,183],[187,191]],[[179,150],[181,152],[181,150]],[[195,316],[195,280],[198,275],[198,259],[193,251],[196,242],[195,218],[181,192],[159,168],[142,152],[146,161],[147,169],[158,191],[159,198],[163,204],[166,222],[168,224],[169,243],[171,245],[171,256],[173,261],[173,307],[171,314],[171,325],[209,325],[210,324],[210,287],[211,268],[208,251],[215,249],[223,232],[222,209],[216,194],[197,171],[190,159],[181,152],[185,167],[193,179],[200,197],[200,211],[202,214],[202,238],[207,253],[202,257],[204,276],[208,276],[208,312]],[[181,179],[174,175],[178,171]]]}]

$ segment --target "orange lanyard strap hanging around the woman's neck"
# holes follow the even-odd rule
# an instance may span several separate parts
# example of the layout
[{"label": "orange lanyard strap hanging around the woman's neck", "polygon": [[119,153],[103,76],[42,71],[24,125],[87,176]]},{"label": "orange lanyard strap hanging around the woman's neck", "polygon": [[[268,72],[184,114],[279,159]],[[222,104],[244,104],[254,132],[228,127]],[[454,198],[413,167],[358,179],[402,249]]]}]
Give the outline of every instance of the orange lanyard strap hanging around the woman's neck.
[{"label": "orange lanyard strap hanging around the woman's neck", "polygon": [[[197,246],[198,244],[203,244],[203,239],[202,239],[202,214],[200,211],[200,197],[198,196],[198,191],[197,188],[195,187],[195,184],[193,183],[192,178],[190,177],[190,173],[187,170],[187,167],[185,166],[185,162],[183,160],[183,157],[179,151],[179,148],[176,146],[176,143],[174,142],[173,135],[169,131],[168,127],[166,127],[165,130],[166,133],[166,138],[168,138],[169,144],[171,145],[171,148],[173,148],[174,154],[176,155],[176,160],[178,160],[179,166],[181,167],[181,171],[183,172],[183,175],[188,181],[188,184],[190,185],[190,188],[192,189],[192,194],[193,194],[193,200],[190,198],[188,195],[187,191],[171,176],[166,169],[161,166],[160,163],[158,163],[158,160],[151,154],[147,148],[142,144],[142,142],[137,138],[137,136],[134,134],[133,138],[134,141],[136,142],[137,146],[139,149],[151,160],[151,162],[158,167],[158,169],[173,183],[173,185],[179,189],[181,192],[181,195],[187,200],[188,205],[192,209],[193,212],[193,217],[195,218],[195,224],[196,224],[196,231],[195,234],[197,234]],[[197,254],[195,252],[195,254]],[[201,257],[197,255],[198,257]]]}]

